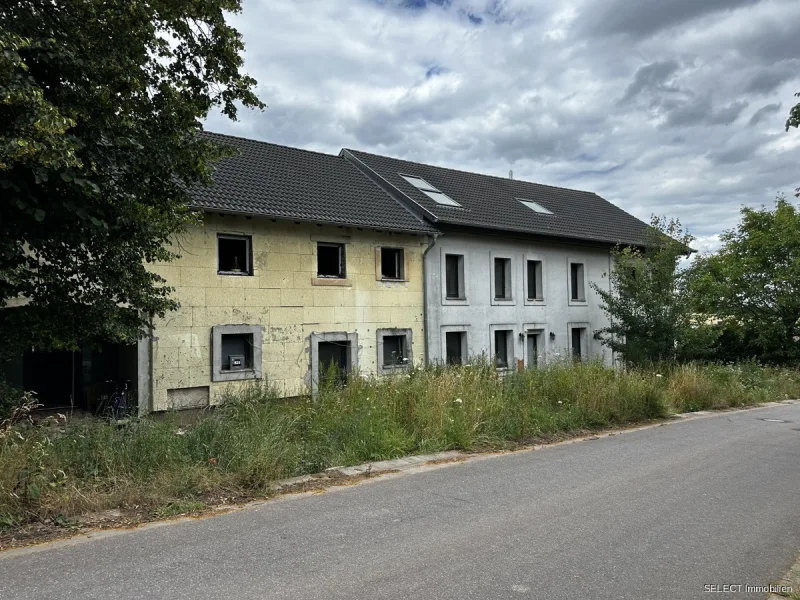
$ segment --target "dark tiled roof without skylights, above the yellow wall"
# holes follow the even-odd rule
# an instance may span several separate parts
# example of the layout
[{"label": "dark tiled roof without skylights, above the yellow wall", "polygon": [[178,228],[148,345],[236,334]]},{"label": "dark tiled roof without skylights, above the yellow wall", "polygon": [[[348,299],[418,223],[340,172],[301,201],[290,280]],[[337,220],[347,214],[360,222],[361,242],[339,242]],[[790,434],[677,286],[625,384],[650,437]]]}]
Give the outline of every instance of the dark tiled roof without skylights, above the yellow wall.
[{"label": "dark tiled roof without skylights, above the yellow wall", "polygon": [[339,156],[203,133],[239,155],[214,166],[214,184],[192,192],[192,205],[279,219],[430,233],[428,223]]}]

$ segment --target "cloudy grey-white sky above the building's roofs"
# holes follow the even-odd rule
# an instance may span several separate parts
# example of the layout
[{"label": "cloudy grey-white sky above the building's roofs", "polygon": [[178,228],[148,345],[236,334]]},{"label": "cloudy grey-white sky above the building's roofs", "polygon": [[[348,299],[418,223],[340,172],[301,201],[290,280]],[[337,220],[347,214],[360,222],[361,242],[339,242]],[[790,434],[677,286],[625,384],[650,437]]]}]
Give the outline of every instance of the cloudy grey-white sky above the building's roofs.
[{"label": "cloudy grey-white sky above the building's roofs", "polygon": [[800,185],[797,0],[244,0],[212,131],[592,190],[710,249]]}]

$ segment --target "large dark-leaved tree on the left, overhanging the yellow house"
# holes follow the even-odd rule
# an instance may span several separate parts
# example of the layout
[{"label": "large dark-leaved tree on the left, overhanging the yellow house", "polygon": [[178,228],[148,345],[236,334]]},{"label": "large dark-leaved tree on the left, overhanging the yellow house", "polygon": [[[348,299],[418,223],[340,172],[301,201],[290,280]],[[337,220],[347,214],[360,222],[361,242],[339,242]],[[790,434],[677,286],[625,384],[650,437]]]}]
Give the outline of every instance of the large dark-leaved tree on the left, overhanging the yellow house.
[{"label": "large dark-leaved tree on the left, overhanging the yellow house", "polygon": [[225,21],[240,8],[0,5],[0,352],[133,341],[174,307],[145,263],[173,258],[187,189],[222,153],[202,120],[262,106]]}]

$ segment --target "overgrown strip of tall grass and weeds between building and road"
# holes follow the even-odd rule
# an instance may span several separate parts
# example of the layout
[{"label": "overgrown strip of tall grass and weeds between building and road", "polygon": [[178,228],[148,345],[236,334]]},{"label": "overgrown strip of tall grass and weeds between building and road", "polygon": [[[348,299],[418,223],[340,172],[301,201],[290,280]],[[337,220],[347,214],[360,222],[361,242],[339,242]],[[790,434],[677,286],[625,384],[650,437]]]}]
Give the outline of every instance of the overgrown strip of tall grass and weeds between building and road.
[{"label": "overgrown strip of tall grass and weeds between building and road", "polygon": [[557,364],[505,378],[490,365],[430,368],[353,378],[344,389],[291,401],[253,385],[192,426],[172,415],[0,433],[0,528],[111,507],[196,512],[213,496],[263,494],[276,479],[336,465],[509,447],[670,410],[787,397],[800,397],[800,373],[754,365],[656,373]]}]

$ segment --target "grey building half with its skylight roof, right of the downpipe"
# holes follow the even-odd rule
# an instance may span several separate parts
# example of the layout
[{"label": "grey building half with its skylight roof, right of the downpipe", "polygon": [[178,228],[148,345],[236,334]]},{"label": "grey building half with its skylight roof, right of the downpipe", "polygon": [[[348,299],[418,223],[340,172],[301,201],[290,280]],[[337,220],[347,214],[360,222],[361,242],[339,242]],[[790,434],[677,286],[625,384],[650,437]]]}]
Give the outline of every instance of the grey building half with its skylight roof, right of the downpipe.
[{"label": "grey building half with its skylight roof, right of the downpipe", "polygon": [[424,265],[429,361],[613,362],[596,339],[608,317],[594,286],[609,289],[611,250],[646,243],[647,225],[590,192],[342,156],[438,230]]}]

